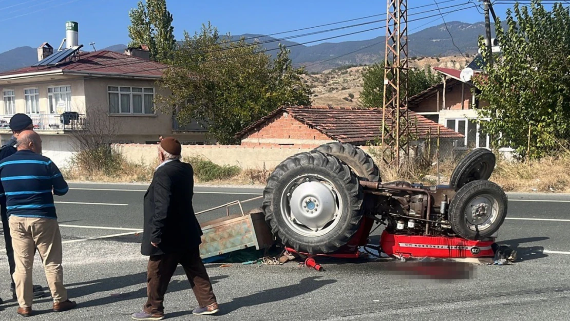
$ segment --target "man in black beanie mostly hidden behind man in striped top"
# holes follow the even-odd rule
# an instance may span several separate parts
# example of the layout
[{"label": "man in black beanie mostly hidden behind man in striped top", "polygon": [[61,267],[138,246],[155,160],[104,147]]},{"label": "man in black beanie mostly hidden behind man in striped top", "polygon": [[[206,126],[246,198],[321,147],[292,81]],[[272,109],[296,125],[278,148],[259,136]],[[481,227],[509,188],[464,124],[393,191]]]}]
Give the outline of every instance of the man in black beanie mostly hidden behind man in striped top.
[{"label": "man in black beanie mostly hidden behind man in striped top", "polygon": [[[0,148],[0,161],[16,152],[16,140],[21,132],[34,129],[34,124],[30,116],[25,113],[17,113],[10,119],[10,129],[12,130],[12,138]],[[8,265],[10,266],[10,291],[12,298],[16,299],[16,285],[12,275],[16,269],[14,262],[14,249],[12,247],[12,237],[10,236],[10,227],[8,226],[8,216],[6,210],[6,196],[0,197],[0,214],[2,216],[2,229],[4,230],[4,240],[6,241],[6,255],[8,257]],[[34,285],[34,298],[41,298],[44,295],[42,286]],[[2,299],[0,298],[0,303]]]}]

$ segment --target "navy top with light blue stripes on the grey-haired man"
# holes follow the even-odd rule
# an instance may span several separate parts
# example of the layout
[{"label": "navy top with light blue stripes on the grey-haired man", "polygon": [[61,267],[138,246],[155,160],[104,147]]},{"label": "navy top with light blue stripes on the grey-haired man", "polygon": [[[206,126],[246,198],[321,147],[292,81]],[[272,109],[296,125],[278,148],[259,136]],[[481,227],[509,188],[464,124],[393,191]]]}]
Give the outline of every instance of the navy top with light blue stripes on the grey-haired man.
[{"label": "navy top with light blue stripes on the grey-haired man", "polygon": [[69,190],[54,162],[25,150],[0,161],[0,182],[8,216],[57,218],[54,194]]}]

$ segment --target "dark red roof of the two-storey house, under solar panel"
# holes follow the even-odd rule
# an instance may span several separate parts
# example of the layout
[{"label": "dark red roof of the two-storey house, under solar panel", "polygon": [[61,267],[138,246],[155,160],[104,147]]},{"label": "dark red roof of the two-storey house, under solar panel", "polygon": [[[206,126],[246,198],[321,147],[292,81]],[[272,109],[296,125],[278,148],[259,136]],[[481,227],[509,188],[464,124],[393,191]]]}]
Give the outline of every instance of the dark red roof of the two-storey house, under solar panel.
[{"label": "dark red roof of the two-storey house, under solar panel", "polygon": [[162,76],[165,64],[119,54],[114,51],[93,51],[80,56],[79,59],[62,63],[58,66],[24,67],[17,70],[0,73],[0,76],[27,74],[29,72],[62,70],[64,74],[80,72],[82,74],[109,74]]}]

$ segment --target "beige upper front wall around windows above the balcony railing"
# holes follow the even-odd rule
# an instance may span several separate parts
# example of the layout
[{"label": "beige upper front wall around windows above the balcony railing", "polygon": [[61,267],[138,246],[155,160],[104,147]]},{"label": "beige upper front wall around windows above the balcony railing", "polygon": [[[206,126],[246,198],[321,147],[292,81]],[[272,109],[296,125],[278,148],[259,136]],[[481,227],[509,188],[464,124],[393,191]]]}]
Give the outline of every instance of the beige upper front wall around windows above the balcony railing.
[{"label": "beige upper front wall around windows above the balcony railing", "polygon": [[[83,78],[68,77],[66,79],[53,80],[53,82],[45,83],[26,83],[11,86],[4,84],[0,86],[0,94],[4,90],[14,90],[16,113],[26,113],[26,101],[24,99],[24,90],[28,88],[38,88],[39,92],[39,112],[42,114],[50,113],[47,88],[52,86],[71,86],[71,111],[85,113],[85,86]],[[0,115],[5,115],[4,100],[0,96]]]}]

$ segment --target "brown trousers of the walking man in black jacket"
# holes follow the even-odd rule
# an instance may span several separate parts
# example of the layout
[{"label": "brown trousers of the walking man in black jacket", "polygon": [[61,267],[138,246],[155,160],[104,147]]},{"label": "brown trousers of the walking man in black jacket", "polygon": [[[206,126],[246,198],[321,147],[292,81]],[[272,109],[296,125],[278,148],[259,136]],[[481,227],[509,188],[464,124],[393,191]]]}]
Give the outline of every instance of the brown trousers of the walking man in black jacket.
[{"label": "brown trousers of the walking man in black jacket", "polygon": [[148,299],[144,305],[144,312],[153,315],[164,314],[162,302],[168,289],[168,283],[170,283],[178,264],[184,267],[184,272],[200,307],[209,306],[216,302],[210,278],[202,258],[200,258],[200,249],[197,247],[187,252],[150,256],[146,279]]}]

